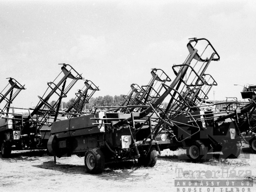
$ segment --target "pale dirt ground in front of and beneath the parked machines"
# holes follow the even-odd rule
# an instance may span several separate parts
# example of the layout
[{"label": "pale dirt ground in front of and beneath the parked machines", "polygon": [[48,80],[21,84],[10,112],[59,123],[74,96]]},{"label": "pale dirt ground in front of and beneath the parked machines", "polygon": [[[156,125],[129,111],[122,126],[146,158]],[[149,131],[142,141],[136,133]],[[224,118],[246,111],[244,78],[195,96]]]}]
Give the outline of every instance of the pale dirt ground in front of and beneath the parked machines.
[{"label": "pale dirt ground in front of and beneath the parked machines", "polygon": [[[235,176],[234,176],[235,175]],[[215,177],[214,177],[215,176]],[[229,187],[174,186],[174,180],[226,180]],[[231,186],[232,181],[253,181],[254,186]],[[240,181],[240,180],[239,180]],[[106,164],[102,174],[86,173],[84,158],[57,158],[46,151],[13,151],[0,156],[0,192],[256,192],[256,154],[244,144],[237,159],[212,158],[192,163],[185,151],[164,150],[154,167],[132,161]]]}]

